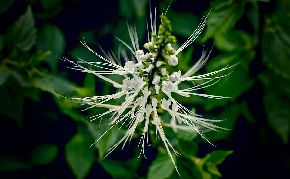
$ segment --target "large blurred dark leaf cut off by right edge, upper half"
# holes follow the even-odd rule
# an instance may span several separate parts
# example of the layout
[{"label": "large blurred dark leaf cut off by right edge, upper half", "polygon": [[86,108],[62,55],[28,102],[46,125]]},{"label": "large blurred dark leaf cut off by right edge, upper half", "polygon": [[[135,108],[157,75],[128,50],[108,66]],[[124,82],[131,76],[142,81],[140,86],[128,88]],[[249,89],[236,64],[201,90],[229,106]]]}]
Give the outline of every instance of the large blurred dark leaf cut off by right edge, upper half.
[{"label": "large blurred dark leaf cut off by right edge, upper half", "polygon": [[277,74],[290,79],[290,13],[266,18],[262,35],[263,61]]}]

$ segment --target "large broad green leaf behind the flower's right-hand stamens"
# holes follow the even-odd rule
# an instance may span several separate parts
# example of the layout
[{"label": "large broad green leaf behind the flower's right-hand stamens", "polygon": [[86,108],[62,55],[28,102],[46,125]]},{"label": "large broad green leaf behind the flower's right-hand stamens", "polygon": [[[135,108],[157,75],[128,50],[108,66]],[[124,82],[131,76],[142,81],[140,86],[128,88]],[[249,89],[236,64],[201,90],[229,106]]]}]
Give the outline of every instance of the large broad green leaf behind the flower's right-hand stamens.
[{"label": "large broad green leaf behind the flower's right-hand stamens", "polygon": [[[237,98],[252,87],[254,80],[249,78],[249,64],[254,56],[255,51],[220,54],[205,64],[205,73],[209,73],[225,68],[226,65],[230,67],[244,59],[241,63],[234,67],[224,70],[216,75],[212,75],[212,77],[216,77],[218,75],[221,76],[229,74],[228,76],[222,77],[216,84],[204,88],[205,94],[232,98],[205,98],[205,110],[209,111],[217,106],[224,106],[230,101],[235,101],[233,98]],[[233,71],[233,73],[231,73],[231,71]]]}]

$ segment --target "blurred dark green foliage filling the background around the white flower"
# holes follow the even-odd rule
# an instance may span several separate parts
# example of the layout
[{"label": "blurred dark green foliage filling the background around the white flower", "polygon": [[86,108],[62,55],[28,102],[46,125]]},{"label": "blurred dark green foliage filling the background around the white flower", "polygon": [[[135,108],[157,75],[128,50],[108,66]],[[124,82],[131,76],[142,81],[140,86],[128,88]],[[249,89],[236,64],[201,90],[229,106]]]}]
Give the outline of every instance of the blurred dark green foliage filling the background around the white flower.
[{"label": "blurred dark green foliage filling the background around the white flower", "polygon": [[[2,3],[0,15],[9,13],[13,3],[16,2],[8,0]],[[77,179],[85,178],[96,163],[112,178],[178,178],[165,148],[160,141],[155,140],[155,134],[153,133],[150,136],[151,147],[158,148],[157,157],[154,160],[144,159],[144,157],[136,160],[140,149],[134,148],[138,145],[140,130],[135,135],[137,145],[132,146],[131,144],[128,147],[131,148],[133,155],[130,154],[126,157],[126,154],[124,154],[125,159],[122,159],[122,161],[114,158],[114,155],[102,161],[101,159],[105,156],[106,151],[122,138],[125,130],[122,128],[118,131],[111,130],[93,147],[88,148],[109,127],[105,125],[107,119],[103,118],[104,122],[99,125],[99,121],[86,122],[86,116],[101,114],[105,112],[105,109],[92,108],[88,111],[88,114],[79,113],[76,109],[82,109],[82,106],[60,97],[54,91],[55,88],[59,94],[75,97],[96,94],[106,95],[112,91],[111,84],[95,78],[92,74],[83,76],[84,78],[81,79],[82,82],[79,84],[78,80],[75,82],[68,80],[68,72],[80,72],[59,70],[58,65],[61,62],[55,57],[55,54],[65,54],[66,57],[71,59],[76,59],[78,56],[87,61],[100,61],[81,45],[66,51],[66,39],[62,29],[52,23],[53,21],[50,21],[66,5],[78,3],[79,1],[67,4],[62,0],[27,0],[26,4],[28,6],[24,14],[12,25],[5,27],[5,31],[0,35],[0,92],[2,94],[0,113],[2,123],[5,124],[4,120],[12,120],[14,122],[11,124],[11,130],[17,131],[17,134],[27,132],[25,130],[25,120],[28,119],[23,117],[25,114],[23,110],[27,109],[25,108],[25,102],[29,99],[35,101],[37,105],[53,103],[58,107],[57,110],[52,112],[45,109],[37,111],[39,114],[30,120],[46,118],[46,122],[49,124],[49,121],[62,121],[63,116],[68,116],[71,120],[75,120],[75,124],[77,124],[77,130],[66,141],[65,146],[60,146],[55,141],[41,141],[29,147],[32,148],[31,150],[24,150],[26,152],[23,154],[25,157],[19,157],[19,154],[4,150],[0,155],[0,170],[6,172],[32,170],[39,165],[51,164],[62,152],[65,155],[61,156],[65,157],[68,167]],[[169,3],[170,1],[167,0],[161,1],[158,5],[159,10],[162,12],[162,7],[167,7]],[[174,6],[174,3],[178,3],[178,1],[174,1],[172,6]],[[207,8],[202,9],[201,16],[206,16],[212,7],[205,31],[196,39],[196,42],[199,46],[212,44],[211,39],[214,37],[215,45],[213,52],[215,55],[211,56],[202,71],[211,72],[225,67],[228,63],[235,64],[239,61],[242,61],[242,63],[232,69],[233,73],[231,75],[222,78],[219,83],[205,88],[201,92],[236,98],[216,100],[192,96],[189,98],[178,97],[178,101],[198,113],[203,113],[206,118],[227,118],[227,121],[218,124],[224,128],[235,128],[238,118],[253,124],[257,119],[253,117],[253,111],[249,109],[249,101],[243,98],[243,95],[251,90],[255,83],[260,82],[263,85],[263,91],[260,91],[260,93],[263,93],[266,118],[259,120],[267,120],[268,126],[280,137],[281,142],[288,145],[290,127],[290,3],[287,0],[277,0],[275,1],[276,8],[274,12],[261,16],[259,8],[263,3],[268,3],[268,1],[215,0],[214,3],[208,4]],[[102,31],[86,29],[79,32],[79,37],[85,37],[86,42],[93,47],[98,47],[96,38],[110,34],[129,44],[127,20],[130,23],[135,23],[139,41],[143,42],[143,37],[147,34],[144,21],[148,17],[147,9],[148,0],[119,0],[119,19],[117,23],[106,22]],[[172,22],[174,35],[180,39],[179,43],[182,43],[184,39],[191,35],[201,20],[200,16],[194,15],[192,12],[175,12],[174,8],[168,9],[167,16]],[[236,28],[237,26],[243,26],[243,22],[240,21],[242,17],[246,17],[247,25],[252,29],[251,32],[247,31],[248,28]],[[118,46],[119,43],[114,41],[112,44],[113,50],[118,51]],[[180,62],[177,68],[182,73],[199,58],[195,54],[201,54],[202,51],[197,52],[198,48],[194,50],[193,47],[196,46],[198,45],[192,45],[185,52],[179,54]],[[211,45],[208,45],[208,48],[210,47]],[[257,58],[260,58],[257,57],[257,53],[262,54],[261,61],[257,60]],[[265,65],[262,70],[259,69],[258,72],[255,72],[256,69],[250,68],[253,66],[252,64],[260,62]],[[69,66],[69,64],[65,65]],[[116,79],[116,81],[118,80],[121,81],[122,79]],[[186,85],[180,88],[186,88]],[[47,102],[47,98],[42,94],[50,96],[53,101]],[[177,98],[177,96],[174,97]],[[118,99],[112,103],[120,104],[121,102],[122,100]],[[58,113],[63,115],[58,115]],[[168,121],[168,119],[168,114],[162,115],[162,120]],[[65,126],[62,130],[66,130],[66,128],[70,128],[70,126]],[[165,128],[165,132],[168,138],[172,138],[172,145],[182,154],[181,158],[173,155],[182,177],[198,179],[222,177],[217,166],[228,155],[232,154],[232,150],[215,150],[215,148],[212,148],[211,152],[200,156],[198,143],[205,143],[206,141],[202,140],[197,134],[182,131],[174,134],[170,128]],[[222,133],[212,131],[206,133],[206,137],[211,142],[230,142],[231,134],[231,131],[223,131]],[[17,141],[15,142],[17,143]],[[25,146],[21,146],[18,150],[21,151],[22,147],[25,148]],[[210,147],[212,146],[208,148]],[[62,151],[60,148],[62,148]],[[145,152],[147,148],[145,148]],[[120,150],[120,148],[116,150]],[[22,152],[19,153],[22,154]],[[142,165],[144,160],[153,160],[153,162],[148,165],[149,167],[141,168],[144,167]],[[144,176],[142,174],[139,176],[140,170],[148,172]]]}]

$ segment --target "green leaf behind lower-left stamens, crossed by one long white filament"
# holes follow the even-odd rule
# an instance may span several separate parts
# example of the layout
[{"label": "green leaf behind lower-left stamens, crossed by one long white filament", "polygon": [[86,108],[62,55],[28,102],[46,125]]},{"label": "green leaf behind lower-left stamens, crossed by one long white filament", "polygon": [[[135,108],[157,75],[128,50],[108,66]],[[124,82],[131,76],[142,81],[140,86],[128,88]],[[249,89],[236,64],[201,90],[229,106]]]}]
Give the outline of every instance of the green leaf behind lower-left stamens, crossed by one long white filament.
[{"label": "green leaf behind lower-left stamens, crossed by one long white filament", "polygon": [[[100,119],[98,119],[98,121],[99,120]],[[112,126],[107,126],[103,123],[101,123],[101,125],[99,126],[99,122],[96,121],[88,123],[88,130],[91,132],[92,136],[94,136],[95,140],[100,138],[110,127]],[[116,129],[117,127],[110,129],[105,135],[102,136],[102,138],[100,138],[95,143],[95,147],[98,149],[100,159],[102,159],[106,152],[124,136],[125,133],[123,131]],[[115,150],[118,150],[118,148]]]}]

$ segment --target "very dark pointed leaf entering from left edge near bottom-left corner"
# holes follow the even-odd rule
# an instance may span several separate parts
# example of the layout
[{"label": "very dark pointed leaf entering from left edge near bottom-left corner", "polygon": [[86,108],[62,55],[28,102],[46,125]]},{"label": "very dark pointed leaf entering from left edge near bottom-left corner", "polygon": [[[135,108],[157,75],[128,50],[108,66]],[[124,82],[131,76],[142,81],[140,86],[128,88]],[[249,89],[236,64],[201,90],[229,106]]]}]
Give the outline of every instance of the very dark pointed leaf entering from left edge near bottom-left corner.
[{"label": "very dark pointed leaf entering from left edge near bottom-left corner", "polygon": [[0,170],[2,171],[13,171],[20,169],[30,169],[31,165],[17,158],[10,158],[5,156],[0,156]]}]

